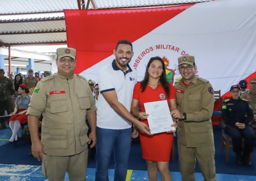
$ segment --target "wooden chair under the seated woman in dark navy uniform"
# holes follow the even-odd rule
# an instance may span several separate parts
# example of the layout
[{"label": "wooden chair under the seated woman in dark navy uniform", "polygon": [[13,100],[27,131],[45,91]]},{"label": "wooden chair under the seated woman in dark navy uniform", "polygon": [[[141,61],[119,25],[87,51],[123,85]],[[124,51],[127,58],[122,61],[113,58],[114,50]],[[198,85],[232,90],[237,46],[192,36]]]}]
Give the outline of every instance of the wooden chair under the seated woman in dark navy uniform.
[{"label": "wooden chair under the seated woman in dark navy uniform", "polygon": [[[226,162],[228,162],[229,158],[229,148],[232,148],[232,138],[230,137],[229,134],[227,134],[223,129],[222,129],[222,136],[221,136],[221,154],[223,154],[224,150],[224,145],[226,148]],[[242,147],[244,147],[244,139],[242,139]],[[250,153],[250,162],[253,163],[253,153]]]}]

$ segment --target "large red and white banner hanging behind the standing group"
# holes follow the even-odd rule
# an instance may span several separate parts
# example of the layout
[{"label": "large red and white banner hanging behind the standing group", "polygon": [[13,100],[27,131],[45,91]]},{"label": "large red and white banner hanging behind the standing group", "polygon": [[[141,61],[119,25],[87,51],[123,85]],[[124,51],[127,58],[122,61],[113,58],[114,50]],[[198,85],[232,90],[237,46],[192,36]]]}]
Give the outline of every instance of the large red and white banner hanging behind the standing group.
[{"label": "large red and white banner hanging behind the standing group", "polygon": [[[170,81],[180,78],[177,58],[195,56],[197,76],[214,90],[256,77],[256,1],[225,0],[130,10],[65,10],[68,47],[76,48],[75,73],[97,82],[114,60],[121,39],[133,44],[130,66],[144,77],[151,57],[162,57]],[[111,78],[111,77],[110,77]],[[249,82],[249,81],[248,81]]]}]

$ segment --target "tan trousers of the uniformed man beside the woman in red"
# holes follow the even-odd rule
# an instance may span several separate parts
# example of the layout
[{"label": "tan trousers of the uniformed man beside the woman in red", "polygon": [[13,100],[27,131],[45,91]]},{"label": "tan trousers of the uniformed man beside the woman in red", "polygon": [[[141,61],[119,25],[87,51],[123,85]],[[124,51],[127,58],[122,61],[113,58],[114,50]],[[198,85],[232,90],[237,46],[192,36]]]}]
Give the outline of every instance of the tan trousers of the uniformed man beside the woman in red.
[{"label": "tan trousers of the uniformed man beside the woman in red", "polygon": [[195,181],[195,166],[198,161],[204,181],[216,181],[215,148],[213,146],[187,148],[178,142],[179,166],[182,181]]}]

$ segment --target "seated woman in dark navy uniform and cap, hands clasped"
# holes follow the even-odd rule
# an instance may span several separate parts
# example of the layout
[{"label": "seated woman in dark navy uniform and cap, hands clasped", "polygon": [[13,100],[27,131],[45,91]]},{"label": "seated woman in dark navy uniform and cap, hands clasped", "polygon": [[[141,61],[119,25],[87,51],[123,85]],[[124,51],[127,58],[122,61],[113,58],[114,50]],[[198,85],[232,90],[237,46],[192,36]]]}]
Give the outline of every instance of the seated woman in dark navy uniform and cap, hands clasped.
[{"label": "seated woman in dark navy uniform and cap, hands clasped", "polygon": [[[250,153],[253,151],[255,138],[249,122],[253,119],[253,110],[246,99],[240,99],[240,88],[233,85],[230,88],[232,98],[222,105],[222,119],[226,123],[225,132],[232,138],[233,151],[237,154],[237,163],[250,166]],[[242,150],[244,138],[244,150]],[[242,154],[243,153],[243,154]]]}]

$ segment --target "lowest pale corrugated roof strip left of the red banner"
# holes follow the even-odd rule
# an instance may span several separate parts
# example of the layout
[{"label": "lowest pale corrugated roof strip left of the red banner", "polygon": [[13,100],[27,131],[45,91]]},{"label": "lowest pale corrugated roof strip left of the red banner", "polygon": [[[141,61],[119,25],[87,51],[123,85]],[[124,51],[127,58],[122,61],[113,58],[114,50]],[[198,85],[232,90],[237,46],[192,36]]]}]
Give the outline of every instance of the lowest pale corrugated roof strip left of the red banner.
[{"label": "lowest pale corrugated roof strip left of the red banner", "polygon": [[22,34],[22,35],[0,35],[0,41],[6,44],[33,44],[48,42],[66,42],[66,32],[63,33],[41,33],[41,34]]}]

